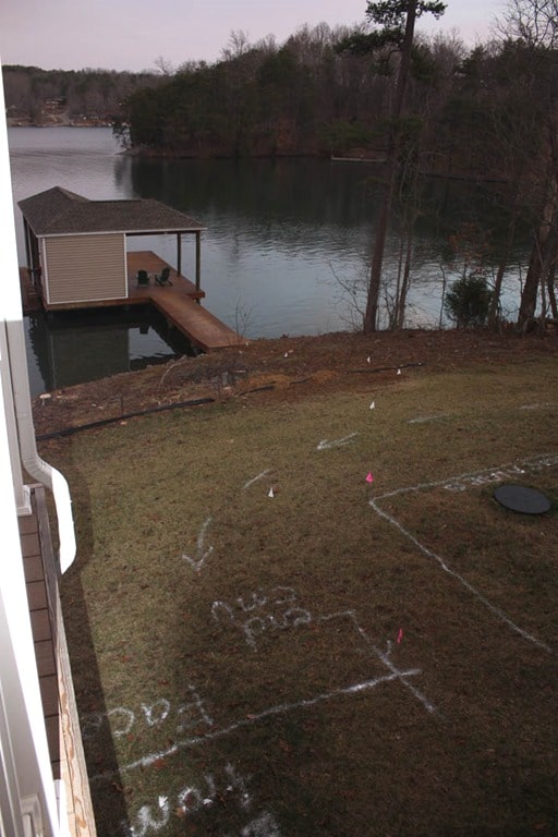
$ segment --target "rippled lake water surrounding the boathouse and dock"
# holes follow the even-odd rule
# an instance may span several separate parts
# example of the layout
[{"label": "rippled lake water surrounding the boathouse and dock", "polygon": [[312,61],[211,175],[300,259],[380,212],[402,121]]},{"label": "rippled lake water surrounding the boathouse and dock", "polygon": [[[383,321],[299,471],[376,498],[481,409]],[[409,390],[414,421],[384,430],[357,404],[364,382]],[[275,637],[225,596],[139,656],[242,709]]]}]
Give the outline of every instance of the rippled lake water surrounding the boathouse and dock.
[{"label": "rippled lake water surrounding the boathouse and dock", "polygon": [[[16,206],[22,198],[54,185],[92,199],[153,197],[207,227],[202,236],[204,305],[246,337],[316,335],[359,325],[343,288],[362,282],[356,298],[359,306],[364,304],[378,206],[375,166],[313,159],[141,159],[121,154],[109,129],[10,129],[9,144],[20,264],[25,264]],[[447,238],[478,194],[436,181],[428,197],[444,211],[436,222],[418,226],[410,326],[440,323],[440,265]],[[174,236],[129,242],[174,264]],[[396,274],[397,251],[393,236],[386,254],[388,276]],[[445,270],[450,281],[457,277]],[[189,236],[184,236],[183,272],[194,275]],[[517,291],[512,275],[505,295],[510,316],[517,308]],[[185,341],[169,337],[163,322],[134,318],[124,322],[98,313],[57,316],[54,323],[44,316],[27,318],[33,393],[187,351]]]}]

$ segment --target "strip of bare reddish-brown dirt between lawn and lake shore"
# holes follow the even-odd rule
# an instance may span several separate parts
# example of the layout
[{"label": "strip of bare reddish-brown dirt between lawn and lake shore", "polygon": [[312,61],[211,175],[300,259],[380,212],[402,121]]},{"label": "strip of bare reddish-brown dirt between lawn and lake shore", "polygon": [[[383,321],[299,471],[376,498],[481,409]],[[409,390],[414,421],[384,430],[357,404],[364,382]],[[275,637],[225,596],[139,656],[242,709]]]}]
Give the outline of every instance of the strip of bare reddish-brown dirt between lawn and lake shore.
[{"label": "strip of bare reddish-brown dirt between lawn and lake shore", "polygon": [[399,368],[409,366],[442,372],[557,354],[555,337],[453,330],[255,340],[242,349],[184,357],[54,390],[35,399],[34,420],[41,436],[199,399],[227,401],[256,393],[284,398],[286,390],[295,398],[298,391],[362,389],[369,386],[371,377],[392,380]]}]

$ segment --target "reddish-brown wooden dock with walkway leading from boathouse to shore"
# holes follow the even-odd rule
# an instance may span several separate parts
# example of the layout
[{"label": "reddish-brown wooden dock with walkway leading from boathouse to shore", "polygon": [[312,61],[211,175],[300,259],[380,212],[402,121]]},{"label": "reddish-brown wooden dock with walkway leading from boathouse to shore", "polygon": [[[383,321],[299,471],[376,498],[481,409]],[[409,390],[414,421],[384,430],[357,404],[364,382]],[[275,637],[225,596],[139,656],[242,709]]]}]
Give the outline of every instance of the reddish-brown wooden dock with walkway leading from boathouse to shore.
[{"label": "reddish-brown wooden dock with walkway leading from boathouse to shore", "polygon": [[[167,320],[182,331],[190,342],[204,352],[213,349],[225,349],[246,342],[244,338],[227,326],[199,301],[205,296],[204,291],[196,289],[194,282],[178,274],[170,265],[151,251],[137,251],[126,254],[128,262],[128,296],[114,300],[96,300],[84,307],[109,307],[123,305],[154,305]],[[160,275],[165,267],[170,267],[172,284],[159,286],[154,277]],[[146,270],[150,277],[149,284],[137,284],[137,271]],[[20,268],[22,300],[24,314],[41,310],[40,296],[33,287],[26,268]],[[63,304],[49,306],[49,311],[68,311],[75,305]]]}]

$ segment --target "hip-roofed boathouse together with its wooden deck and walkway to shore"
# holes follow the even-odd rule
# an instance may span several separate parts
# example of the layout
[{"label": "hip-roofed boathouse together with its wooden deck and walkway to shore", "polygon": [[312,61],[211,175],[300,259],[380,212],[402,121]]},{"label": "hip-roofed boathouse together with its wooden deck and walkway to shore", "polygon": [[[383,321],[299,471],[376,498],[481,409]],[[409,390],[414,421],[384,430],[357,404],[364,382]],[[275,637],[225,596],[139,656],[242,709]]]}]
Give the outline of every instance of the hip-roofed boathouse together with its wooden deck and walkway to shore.
[{"label": "hip-roofed boathouse together with its wooden deck and walkway to shore", "polygon": [[[25,314],[37,308],[151,304],[202,351],[241,341],[232,328],[196,304],[205,296],[201,287],[205,228],[199,221],[158,201],[89,201],[61,186],[20,201],[19,206],[27,256],[27,266],[20,269]],[[177,239],[175,268],[151,251],[129,246],[134,235],[163,234]],[[193,281],[182,275],[183,235],[195,240]]]}]

